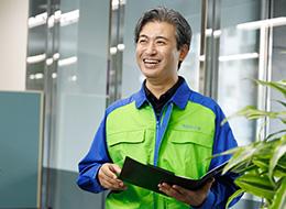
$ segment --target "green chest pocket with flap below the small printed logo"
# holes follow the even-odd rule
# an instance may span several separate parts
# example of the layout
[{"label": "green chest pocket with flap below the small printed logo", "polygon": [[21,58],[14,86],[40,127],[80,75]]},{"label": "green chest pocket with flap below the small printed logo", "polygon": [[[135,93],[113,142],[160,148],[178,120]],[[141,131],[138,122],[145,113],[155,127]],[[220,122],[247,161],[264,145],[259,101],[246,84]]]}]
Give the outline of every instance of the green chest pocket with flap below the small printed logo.
[{"label": "green chest pocket with flap below the small printed logo", "polygon": [[[173,130],[167,134],[163,153],[166,168],[180,176],[199,178],[207,173],[212,155],[212,134]],[[174,169],[175,168],[175,169]]]}]

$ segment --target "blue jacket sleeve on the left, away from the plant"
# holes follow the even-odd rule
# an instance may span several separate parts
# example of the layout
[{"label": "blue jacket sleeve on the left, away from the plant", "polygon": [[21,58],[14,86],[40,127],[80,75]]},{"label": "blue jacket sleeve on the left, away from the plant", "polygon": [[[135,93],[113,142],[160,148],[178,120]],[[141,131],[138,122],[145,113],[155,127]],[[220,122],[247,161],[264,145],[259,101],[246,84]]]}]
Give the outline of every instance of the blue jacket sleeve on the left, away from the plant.
[{"label": "blue jacket sleeve on the left, away from the plant", "polygon": [[105,190],[100,186],[97,174],[100,166],[105,163],[110,163],[111,160],[108,155],[107,144],[106,144],[106,117],[101,121],[96,136],[92,141],[91,147],[88,154],[78,164],[79,176],[77,178],[77,185],[91,193],[100,193]]}]

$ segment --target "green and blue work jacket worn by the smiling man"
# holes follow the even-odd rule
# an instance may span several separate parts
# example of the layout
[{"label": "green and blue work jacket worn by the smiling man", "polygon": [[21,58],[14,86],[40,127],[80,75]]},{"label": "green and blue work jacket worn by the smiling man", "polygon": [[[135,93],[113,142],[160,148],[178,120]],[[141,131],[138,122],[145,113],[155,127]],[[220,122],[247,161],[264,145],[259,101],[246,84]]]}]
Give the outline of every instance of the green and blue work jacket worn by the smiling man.
[{"label": "green and blue work jacket worn by the smiling man", "polygon": [[[97,179],[100,166],[105,163],[122,166],[125,156],[179,176],[199,178],[230,157],[211,158],[213,154],[237,146],[229,123],[221,125],[223,119],[220,107],[212,99],[190,90],[186,81],[156,117],[142,87],[106,110],[90,151],[79,163],[77,184],[91,193],[105,190]],[[228,197],[237,189],[233,179],[232,174],[217,178],[199,208],[224,208]],[[190,208],[174,198],[127,186],[127,190],[108,195],[106,208]]]}]

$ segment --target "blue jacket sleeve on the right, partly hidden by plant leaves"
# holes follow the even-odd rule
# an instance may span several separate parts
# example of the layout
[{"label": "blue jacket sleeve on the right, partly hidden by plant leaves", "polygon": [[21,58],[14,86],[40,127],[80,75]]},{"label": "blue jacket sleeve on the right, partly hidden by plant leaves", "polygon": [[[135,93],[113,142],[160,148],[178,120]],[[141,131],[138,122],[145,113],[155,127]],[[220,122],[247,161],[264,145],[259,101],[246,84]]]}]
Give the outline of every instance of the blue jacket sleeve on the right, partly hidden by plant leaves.
[{"label": "blue jacket sleeve on the right, partly hidden by plant leaves", "polygon": [[[224,123],[221,125],[221,121],[224,119],[224,114],[219,107],[216,107],[216,135],[213,141],[213,150],[212,154],[218,154],[223,151],[233,148],[238,146],[237,141],[232,134],[231,128],[229,123]],[[222,155],[219,157],[215,157],[210,162],[209,169],[212,169],[226,161],[228,161],[230,155]],[[238,177],[237,174],[228,173],[223,176],[216,178],[215,183],[211,186],[211,189],[207,196],[205,202],[198,207],[200,209],[207,208],[216,208],[216,209],[224,209],[228,198],[238,190],[238,187],[234,185],[234,179]],[[230,206],[233,206],[238,202],[240,197],[232,200]],[[194,207],[196,208],[196,207]]]}]

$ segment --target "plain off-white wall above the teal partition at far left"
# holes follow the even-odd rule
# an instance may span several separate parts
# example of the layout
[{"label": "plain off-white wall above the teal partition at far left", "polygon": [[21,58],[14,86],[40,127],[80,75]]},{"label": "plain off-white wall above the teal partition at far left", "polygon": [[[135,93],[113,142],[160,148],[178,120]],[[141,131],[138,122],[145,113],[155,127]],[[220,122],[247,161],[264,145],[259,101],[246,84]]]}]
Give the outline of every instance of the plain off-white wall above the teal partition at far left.
[{"label": "plain off-white wall above the teal partition at far left", "polygon": [[25,90],[29,0],[0,0],[0,90]]}]

